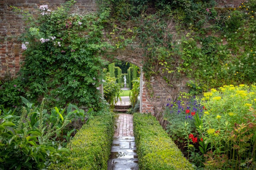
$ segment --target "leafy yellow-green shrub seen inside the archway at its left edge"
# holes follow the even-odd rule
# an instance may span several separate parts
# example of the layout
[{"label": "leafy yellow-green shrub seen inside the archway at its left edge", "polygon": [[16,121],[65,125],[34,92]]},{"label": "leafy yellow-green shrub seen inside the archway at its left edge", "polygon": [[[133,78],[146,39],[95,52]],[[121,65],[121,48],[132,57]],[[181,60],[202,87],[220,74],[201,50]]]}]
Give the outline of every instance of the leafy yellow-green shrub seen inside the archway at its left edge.
[{"label": "leafy yellow-green shrub seen inside the archway at its left edge", "polygon": [[115,77],[110,77],[109,73],[106,74],[105,81],[106,82],[103,83],[104,98],[110,104],[110,108],[114,109],[118,99],[121,101],[119,95],[121,92],[121,84],[116,82]]}]

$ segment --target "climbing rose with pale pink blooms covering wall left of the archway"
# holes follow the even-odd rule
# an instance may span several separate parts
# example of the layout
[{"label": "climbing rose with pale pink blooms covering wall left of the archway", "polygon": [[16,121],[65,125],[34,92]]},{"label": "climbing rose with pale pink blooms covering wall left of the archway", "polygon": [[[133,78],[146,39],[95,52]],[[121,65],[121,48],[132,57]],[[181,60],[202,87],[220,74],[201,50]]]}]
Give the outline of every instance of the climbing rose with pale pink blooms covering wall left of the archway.
[{"label": "climbing rose with pale pink blooms covering wall left of the archway", "polygon": [[27,25],[20,37],[22,43],[29,43],[23,52],[24,65],[17,79],[3,85],[2,104],[19,105],[17,96],[24,95],[32,101],[44,96],[49,107],[64,106],[68,101],[95,110],[103,107],[96,87],[103,78],[100,54],[109,48],[101,40],[105,21],[93,13],[69,13],[73,3],[68,1],[45,15],[39,13]]}]

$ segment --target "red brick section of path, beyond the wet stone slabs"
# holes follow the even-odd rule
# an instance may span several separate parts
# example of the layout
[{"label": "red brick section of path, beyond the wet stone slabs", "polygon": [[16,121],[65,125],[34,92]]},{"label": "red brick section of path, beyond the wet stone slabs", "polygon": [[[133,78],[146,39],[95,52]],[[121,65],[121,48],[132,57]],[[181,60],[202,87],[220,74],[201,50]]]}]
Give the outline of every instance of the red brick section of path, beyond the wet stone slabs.
[{"label": "red brick section of path, beyond the wet stone slabs", "polygon": [[134,136],[132,114],[119,114],[114,136]]}]

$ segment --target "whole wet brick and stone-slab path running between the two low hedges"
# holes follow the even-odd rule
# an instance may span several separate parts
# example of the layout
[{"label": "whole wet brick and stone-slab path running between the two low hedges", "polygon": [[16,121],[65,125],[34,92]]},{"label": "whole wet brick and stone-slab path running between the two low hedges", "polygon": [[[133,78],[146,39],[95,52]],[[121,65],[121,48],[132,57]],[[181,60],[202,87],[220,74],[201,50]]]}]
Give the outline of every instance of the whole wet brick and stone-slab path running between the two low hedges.
[{"label": "whole wet brick and stone-slab path running between the two low hedges", "polygon": [[133,115],[121,113],[117,120],[108,170],[138,169],[138,156],[133,137]]}]

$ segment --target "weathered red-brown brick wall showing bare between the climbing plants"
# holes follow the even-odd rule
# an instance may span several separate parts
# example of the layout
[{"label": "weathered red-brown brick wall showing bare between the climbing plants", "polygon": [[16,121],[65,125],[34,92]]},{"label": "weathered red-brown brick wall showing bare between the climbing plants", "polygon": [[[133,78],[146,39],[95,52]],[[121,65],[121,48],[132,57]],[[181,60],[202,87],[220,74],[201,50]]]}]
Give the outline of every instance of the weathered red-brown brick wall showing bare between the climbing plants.
[{"label": "weathered red-brown brick wall showing bare between the climbing plants", "polygon": [[[77,3],[72,7],[71,11],[79,13],[95,11],[95,0],[76,0]],[[20,63],[23,61],[21,44],[17,41],[18,35],[24,32],[25,23],[22,16],[15,14],[10,6],[27,10],[31,14],[38,11],[39,6],[47,4],[50,9],[55,9],[65,0],[0,0],[0,78],[9,79],[14,77],[19,69]],[[238,7],[241,1],[238,0],[216,0],[217,7]],[[174,28],[174,25],[169,24]],[[174,31],[175,32],[175,31]],[[210,33],[209,33],[210,34]],[[176,37],[177,39],[179,37]],[[226,43],[224,39],[223,43]],[[131,50],[127,48],[125,52],[117,52],[115,58],[128,61],[139,66],[142,69],[143,58],[141,50]],[[159,68],[160,69],[160,68]],[[168,77],[173,86],[166,83],[163,79],[164,75],[151,77],[150,84],[152,88],[146,86],[146,78],[143,70],[141,71],[141,107],[140,111],[144,113],[160,114],[165,107],[167,100],[176,98],[178,92],[188,92],[186,82],[189,80],[181,73],[179,77],[173,75]],[[151,94],[154,94],[153,96]]]}]

